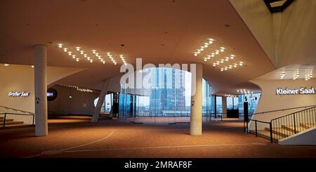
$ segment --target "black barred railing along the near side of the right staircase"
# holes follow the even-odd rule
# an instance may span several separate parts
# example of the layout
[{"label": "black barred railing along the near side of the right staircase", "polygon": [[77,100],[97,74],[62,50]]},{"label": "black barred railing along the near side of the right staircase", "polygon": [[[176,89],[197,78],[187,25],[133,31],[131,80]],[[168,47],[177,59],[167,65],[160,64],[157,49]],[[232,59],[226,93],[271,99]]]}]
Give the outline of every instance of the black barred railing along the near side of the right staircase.
[{"label": "black barred railing along the near side of the right staircase", "polygon": [[271,119],[275,140],[287,138],[305,129],[316,126],[316,106]]}]

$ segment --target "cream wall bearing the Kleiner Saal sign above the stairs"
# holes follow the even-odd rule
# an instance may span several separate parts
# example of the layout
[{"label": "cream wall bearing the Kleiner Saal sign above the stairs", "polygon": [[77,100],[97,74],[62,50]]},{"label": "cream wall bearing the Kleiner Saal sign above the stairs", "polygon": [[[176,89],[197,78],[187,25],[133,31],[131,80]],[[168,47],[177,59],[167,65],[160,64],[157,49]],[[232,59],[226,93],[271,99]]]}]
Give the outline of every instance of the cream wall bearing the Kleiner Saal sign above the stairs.
[{"label": "cream wall bearing the Kleiner Saal sign above the stairs", "polygon": [[[254,84],[261,87],[261,99],[258,102],[256,113],[267,112],[272,110],[282,110],[292,107],[303,107],[316,105],[316,95],[276,95],[277,88],[301,88],[301,86],[316,87],[316,79],[305,81],[304,79],[279,79],[279,80],[251,80]],[[273,112],[267,114],[254,114],[252,119],[261,121],[270,121],[277,117],[284,116],[298,110],[288,110],[284,112]],[[259,124],[258,129],[263,129],[267,124]],[[254,129],[254,123],[251,122],[249,129]]]}]

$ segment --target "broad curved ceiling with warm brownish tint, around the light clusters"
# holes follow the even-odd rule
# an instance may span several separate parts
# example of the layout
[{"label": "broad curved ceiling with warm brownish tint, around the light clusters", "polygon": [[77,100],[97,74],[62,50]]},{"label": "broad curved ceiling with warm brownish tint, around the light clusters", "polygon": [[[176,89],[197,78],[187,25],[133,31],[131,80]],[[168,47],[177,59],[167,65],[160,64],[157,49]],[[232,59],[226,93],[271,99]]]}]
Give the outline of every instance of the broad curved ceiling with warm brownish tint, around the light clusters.
[{"label": "broad curved ceiling with warm brownish tint, around the light clusters", "polygon": [[[113,65],[110,59],[105,59],[105,65],[76,62],[60,51],[58,43],[96,49],[103,55],[123,54],[133,65],[136,58],[155,65],[200,62],[204,78],[216,92],[275,69],[228,0],[4,0],[0,20],[0,62],[31,65],[32,47],[46,44],[48,65],[88,68],[58,84],[98,89],[105,78],[119,74],[121,65]],[[224,46],[225,52],[246,65],[220,72],[220,67],[212,66],[214,60],[195,57],[195,50],[210,37],[215,41],[204,55]]]}]

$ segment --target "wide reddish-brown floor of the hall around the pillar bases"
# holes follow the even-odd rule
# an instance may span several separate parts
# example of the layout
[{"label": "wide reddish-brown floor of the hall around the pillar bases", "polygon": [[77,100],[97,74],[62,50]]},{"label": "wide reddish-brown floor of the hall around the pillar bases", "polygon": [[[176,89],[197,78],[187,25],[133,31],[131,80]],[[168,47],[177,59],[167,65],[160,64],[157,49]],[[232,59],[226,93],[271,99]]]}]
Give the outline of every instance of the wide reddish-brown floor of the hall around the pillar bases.
[{"label": "wide reddish-brown floor of the hall around the pillar bases", "polygon": [[[243,133],[237,119],[190,124],[131,124],[90,117],[50,119],[49,135],[34,128],[0,131],[0,157],[316,157],[315,146],[281,146]],[[289,151],[291,150],[291,151]]]}]

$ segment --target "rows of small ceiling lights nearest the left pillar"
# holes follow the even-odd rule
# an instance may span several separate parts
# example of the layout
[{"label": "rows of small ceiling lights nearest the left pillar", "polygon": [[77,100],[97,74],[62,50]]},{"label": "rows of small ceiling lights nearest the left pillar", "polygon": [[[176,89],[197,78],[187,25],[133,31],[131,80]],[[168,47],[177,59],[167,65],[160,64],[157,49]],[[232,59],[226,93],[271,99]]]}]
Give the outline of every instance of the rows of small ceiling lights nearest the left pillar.
[{"label": "rows of small ceiling lights nearest the left pillar", "polygon": [[[76,46],[76,47],[73,48],[73,51],[72,51],[71,48],[67,48],[64,44],[57,44],[57,46],[63,52],[65,52],[68,55],[70,55],[77,62],[79,62],[79,60],[81,60],[81,58],[86,58],[86,60],[88,60],[88,62],[92,63],[92,62],[96,61],[96,59],[98,58],[98,60],[100,60],[100,62],[105,64],[105,59],[96,50],[84,51],[83,48],[81,48],[79,46]],[[113,58],[113,55],[111,53],[107,53],[107,57],[112,60],[114,65],[117,65],[117,61]],[[121,57],[123,57],[123,56],[121,56]],[[121,60],[124,63],[124,65],[126,65],[126,60],[124,59],[124,57],[121,58]]]}]

